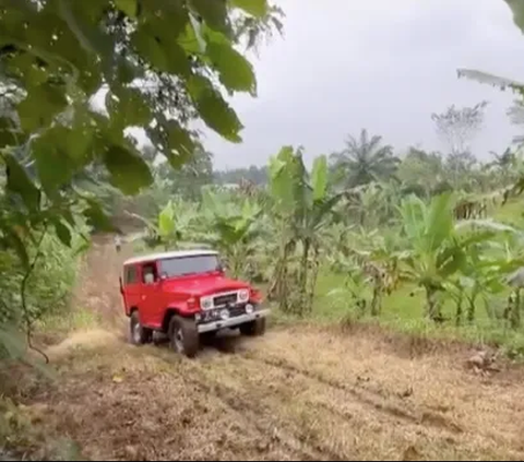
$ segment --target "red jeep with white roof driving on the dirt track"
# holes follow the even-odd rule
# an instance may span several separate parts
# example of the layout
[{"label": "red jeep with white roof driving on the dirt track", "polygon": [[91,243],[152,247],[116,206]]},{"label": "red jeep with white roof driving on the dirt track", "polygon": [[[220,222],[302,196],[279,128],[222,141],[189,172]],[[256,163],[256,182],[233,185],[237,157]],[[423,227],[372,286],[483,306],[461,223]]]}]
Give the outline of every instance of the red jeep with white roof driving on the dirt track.
[{"label": "red jeep with white roof driving on the dirt track", "polygon": [[225,328],[245,335],[265,332],[269,309],[260,292],[227,279],[212,250],[131,258],[123,262],[120,292],[134,344],[151,342],[157,331],[168,335],[175,351],[193,357],[201,334]]}]

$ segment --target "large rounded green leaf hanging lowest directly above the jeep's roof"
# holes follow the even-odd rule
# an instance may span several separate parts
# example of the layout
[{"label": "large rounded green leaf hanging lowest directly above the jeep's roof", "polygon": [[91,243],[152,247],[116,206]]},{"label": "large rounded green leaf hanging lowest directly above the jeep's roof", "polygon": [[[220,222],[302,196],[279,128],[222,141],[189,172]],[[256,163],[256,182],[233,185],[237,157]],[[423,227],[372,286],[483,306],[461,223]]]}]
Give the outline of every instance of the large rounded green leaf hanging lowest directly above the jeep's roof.
[{"label": "large rounded green leaf hanging lowest directly above the jeep's roof", "polygon": [[110,181],[126,194],[135,194],[153,182],[147,164],[131,149],[111,145],[104,153]]}]

